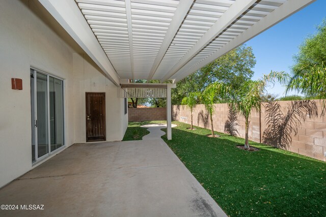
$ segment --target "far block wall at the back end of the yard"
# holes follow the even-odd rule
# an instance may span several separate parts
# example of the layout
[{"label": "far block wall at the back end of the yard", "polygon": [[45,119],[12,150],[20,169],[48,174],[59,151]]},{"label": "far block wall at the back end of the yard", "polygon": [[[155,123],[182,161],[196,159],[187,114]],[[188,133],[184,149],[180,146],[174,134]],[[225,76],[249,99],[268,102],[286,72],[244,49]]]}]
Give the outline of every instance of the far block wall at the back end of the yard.
[{"label": "far block wall at the back end of the yard", "polygon": [[128,121],[166,119],[167,108],[128,108]]}]

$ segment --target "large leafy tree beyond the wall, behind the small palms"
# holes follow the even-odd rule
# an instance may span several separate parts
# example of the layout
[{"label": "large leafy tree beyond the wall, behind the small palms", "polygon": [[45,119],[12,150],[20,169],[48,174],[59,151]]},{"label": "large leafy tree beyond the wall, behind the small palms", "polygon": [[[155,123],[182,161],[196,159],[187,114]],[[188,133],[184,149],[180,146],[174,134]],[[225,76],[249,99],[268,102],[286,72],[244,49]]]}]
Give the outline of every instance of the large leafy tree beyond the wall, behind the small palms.
[{"label": "large leafy tree beyond the wall, behind the small palms", "polygon": [[182,99],[190,92],[203,92],[209,84],[215,81],[223,81],[237,88],[253,76],[254,72],[251,69],[255,64],[256,60],[251,47],[246,45],[237,47],[177,82],[177,87],[172,89],[172,104],[180,105]]}]

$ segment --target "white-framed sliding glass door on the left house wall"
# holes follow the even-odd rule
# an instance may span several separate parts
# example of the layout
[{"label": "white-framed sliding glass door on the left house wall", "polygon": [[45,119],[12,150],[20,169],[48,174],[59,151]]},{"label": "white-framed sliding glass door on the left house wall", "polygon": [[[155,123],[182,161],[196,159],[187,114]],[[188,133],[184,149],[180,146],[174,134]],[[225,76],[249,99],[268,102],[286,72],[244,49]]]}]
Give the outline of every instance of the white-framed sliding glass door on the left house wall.
[{"label": "white-framed sliding glass door on the left house wall", "polygon": [[64,146],[63,80],[31,70],[32,162]]}]

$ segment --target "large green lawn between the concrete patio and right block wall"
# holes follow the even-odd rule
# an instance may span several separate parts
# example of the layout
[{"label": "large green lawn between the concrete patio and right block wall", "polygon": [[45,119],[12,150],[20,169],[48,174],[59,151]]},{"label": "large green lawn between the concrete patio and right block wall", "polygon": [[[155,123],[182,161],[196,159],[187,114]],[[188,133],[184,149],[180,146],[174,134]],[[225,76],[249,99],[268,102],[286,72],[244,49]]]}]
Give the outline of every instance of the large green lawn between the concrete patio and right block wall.
[{"label": "large green lawn between the concrete patio and right block wall", "polygon": [[248,152],[235,147],[241,138],[174,123],[162,138],[228,215],[326,216],[326,163],[255,142],[260,151]]}]

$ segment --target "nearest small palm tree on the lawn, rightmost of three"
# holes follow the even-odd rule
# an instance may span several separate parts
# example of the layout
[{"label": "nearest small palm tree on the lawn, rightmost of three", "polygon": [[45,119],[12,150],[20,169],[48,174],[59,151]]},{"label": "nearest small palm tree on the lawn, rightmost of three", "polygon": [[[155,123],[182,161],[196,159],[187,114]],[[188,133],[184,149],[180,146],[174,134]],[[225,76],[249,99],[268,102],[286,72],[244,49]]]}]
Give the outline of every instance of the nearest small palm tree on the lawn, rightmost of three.
[{"label": "nearest small palm tree on the lawn, rightmost of three", "polygon": [[232,109],[243,115],[246,125],[246,135],[244,139],[244,149],[249,150],[249,117],[252,109],[260,110],[262,96],[266,90],[268,82],[275,83],[275,80],[285,83],[288,75],[284,72],[270,72],[259,80],[248,80],[238,89],[226,87],[224,83],[215,82],[210,85],[210,89],[219,96],[228,100]]}]

